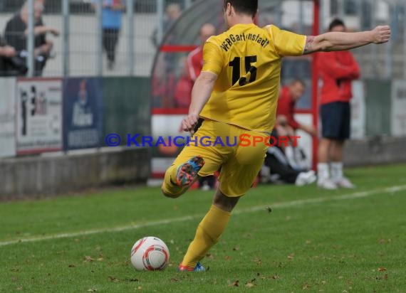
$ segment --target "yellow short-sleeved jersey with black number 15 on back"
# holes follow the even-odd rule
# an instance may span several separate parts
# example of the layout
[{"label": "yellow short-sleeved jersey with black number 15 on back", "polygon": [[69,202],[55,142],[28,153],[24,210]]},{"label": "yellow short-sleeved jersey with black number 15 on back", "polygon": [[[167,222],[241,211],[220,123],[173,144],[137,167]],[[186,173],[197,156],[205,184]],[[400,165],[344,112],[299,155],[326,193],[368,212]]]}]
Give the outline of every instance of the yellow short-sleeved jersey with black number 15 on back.
[{"label": "yellow short-sleeved jersey with black number 15 on back", "polygon": [[237,24],[204,44],[202,71],[217,75],[200,116],[244,129],[271,132],[276,117],[281,58],[303,55],[306,36],[276,26]]}]

